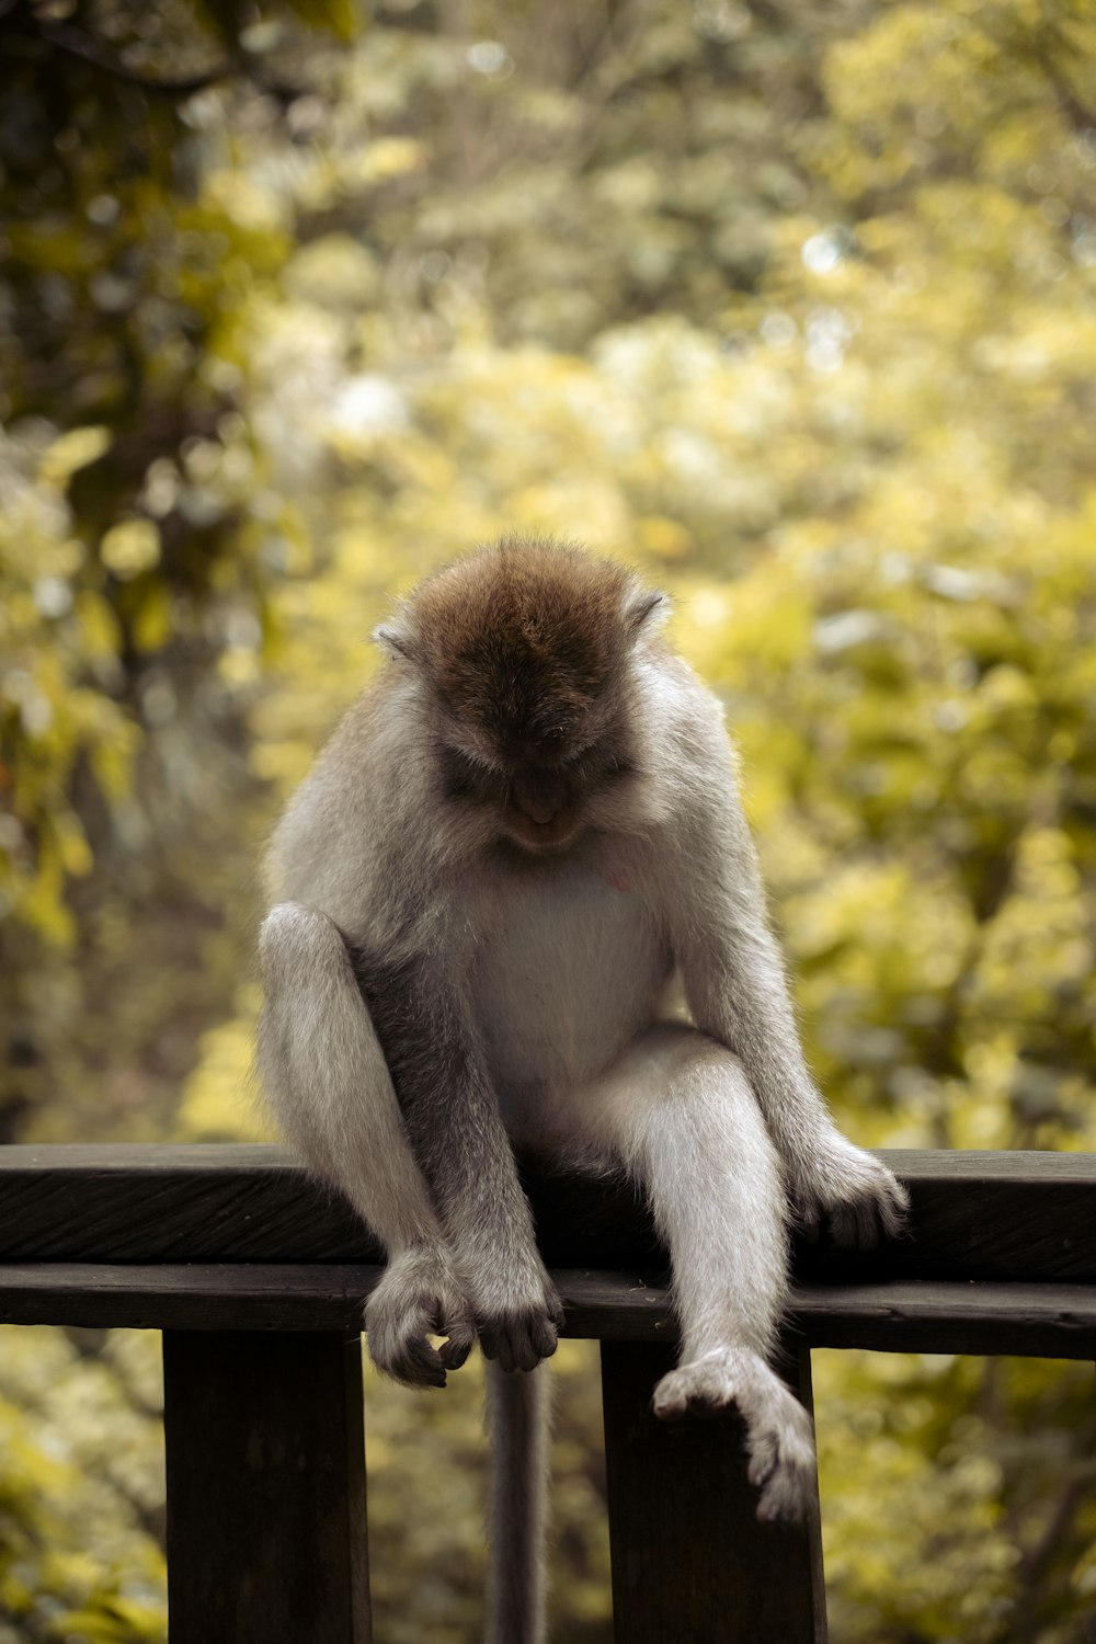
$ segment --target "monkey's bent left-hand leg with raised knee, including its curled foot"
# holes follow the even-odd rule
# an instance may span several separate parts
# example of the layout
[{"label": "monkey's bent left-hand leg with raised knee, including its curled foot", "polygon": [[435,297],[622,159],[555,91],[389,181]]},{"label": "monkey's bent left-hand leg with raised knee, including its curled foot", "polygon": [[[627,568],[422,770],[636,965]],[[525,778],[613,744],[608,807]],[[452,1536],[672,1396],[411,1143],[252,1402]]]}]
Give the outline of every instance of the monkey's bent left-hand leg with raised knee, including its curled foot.
[{"label": "monkey's bent left-hand leg with raised knee, including its curled foot", "polygon": [[[325,914],[283,903],[263,922],[260,960],[258,1062],[274,1118],[388,1251],[365,1310],[370,1353],[399,1381],[440,1388],[472,1350],[472,1312],[347,947]],[[432,1333],[449,1337],[440,1351]]]}]

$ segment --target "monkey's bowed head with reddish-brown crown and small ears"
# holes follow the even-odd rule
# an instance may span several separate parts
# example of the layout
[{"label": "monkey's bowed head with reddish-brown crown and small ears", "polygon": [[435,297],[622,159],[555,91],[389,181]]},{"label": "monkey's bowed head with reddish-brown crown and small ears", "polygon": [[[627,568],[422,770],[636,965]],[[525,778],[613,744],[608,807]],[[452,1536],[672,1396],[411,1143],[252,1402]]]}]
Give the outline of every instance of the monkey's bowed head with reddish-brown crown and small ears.
[{"label": "monkey's bowed head with reddish-brown crown and small ears", "polygon": [[633,774],[629,658],[665,605],[623,566],[504,538],[429,577],[375,638],[424,679],[445,797],[564,850]]}]

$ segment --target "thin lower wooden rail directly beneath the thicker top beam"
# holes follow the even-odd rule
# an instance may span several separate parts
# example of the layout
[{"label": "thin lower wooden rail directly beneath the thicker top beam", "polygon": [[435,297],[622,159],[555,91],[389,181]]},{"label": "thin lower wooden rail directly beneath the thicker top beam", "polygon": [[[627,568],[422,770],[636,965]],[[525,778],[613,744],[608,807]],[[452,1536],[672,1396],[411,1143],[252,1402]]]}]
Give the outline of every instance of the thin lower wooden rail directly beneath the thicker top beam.
[{"label": "thin lower wooden rail directly beneath the thicker top beam", "polygon": [[[0,1323],[353,1335],[380,1268],[265,1263],[0,1266]],[[675,1342],[665,1282],[555,1269],[567,1333]],[[1083,1284],[891,1279],[797,1286],[789,1333],[808,1346],[1096,1358],[1096,1291]]]}]

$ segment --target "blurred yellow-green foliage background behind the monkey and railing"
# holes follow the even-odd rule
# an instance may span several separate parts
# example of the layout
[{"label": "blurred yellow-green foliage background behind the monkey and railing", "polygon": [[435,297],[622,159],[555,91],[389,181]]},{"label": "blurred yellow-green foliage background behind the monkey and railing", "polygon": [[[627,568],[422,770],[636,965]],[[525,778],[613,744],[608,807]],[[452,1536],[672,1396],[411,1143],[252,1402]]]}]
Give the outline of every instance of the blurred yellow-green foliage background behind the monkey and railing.
[{"label": "blurred yellow-green foliage background behind the monkey and railing", "polygon": [[[0,1138],[261,1134],[263,830],[529,528],[674,592],[850,1133],[1096,1146],[1094,298],[1091,0],[0,0]],[[163,1636],[156,1355],[2,1333],[0,1641]],[[817,1360],[833,1637],[1091,1641],[1091,1366]],[[477,1373],[366,1424],[472,1641]]]}]

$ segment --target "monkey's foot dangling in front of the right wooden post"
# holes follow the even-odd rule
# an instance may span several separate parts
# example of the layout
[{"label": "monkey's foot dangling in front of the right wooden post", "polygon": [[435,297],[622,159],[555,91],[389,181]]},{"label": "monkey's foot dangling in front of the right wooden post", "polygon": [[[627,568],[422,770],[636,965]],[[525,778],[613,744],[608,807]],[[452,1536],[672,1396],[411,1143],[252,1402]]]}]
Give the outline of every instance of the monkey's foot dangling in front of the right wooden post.
[{"label": "monkey's foot dangling in front of the right wooden post", "polygon": [[654,1389],[654,1414],[718,1415],[738,1407],[746,1422],[746,1476],[761,1489],[758,1517],[799,1522],[815,1496],[815,1437],[810,1415],[781,1378],[749,1348],[718,1346],[679,1365]]}]

